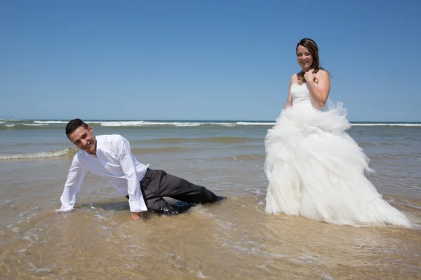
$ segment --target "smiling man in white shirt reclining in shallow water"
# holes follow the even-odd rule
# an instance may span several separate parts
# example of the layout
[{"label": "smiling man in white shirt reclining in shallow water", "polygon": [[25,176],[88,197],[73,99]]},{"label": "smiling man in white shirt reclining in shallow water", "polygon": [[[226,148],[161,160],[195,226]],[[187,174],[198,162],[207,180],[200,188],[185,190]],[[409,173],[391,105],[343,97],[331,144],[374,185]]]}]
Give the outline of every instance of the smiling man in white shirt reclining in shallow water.
[{"label": "smiling man in white shirt reclining in shallow water", "polygon": [[[124,137],[118,134],[95,137],[91,125],[79,118],[67,123],[66,135],[80,151],[74,155],[70,166],[59,211],[73,209],[76,195],[90,172],[105,176],[116,190],[126,195],[133,221],[140,218],[142,211],[179,214],[191,207],[192,203],[212,203],[225,199],[163,170],[149,169],[149,165],[135,159]],[[163,197],[189,204],[187,207],[171,205]]]}]

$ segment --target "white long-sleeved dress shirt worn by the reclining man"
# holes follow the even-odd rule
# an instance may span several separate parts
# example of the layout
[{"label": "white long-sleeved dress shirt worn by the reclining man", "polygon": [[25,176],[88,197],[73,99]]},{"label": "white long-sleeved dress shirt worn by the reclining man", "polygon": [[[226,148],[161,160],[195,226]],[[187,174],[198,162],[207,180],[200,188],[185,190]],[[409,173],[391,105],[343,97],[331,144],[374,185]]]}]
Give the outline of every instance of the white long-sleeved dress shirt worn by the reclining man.
[{"label": "white long-sleeved dress shirt worn by the reclining man", "polygon": [[130,144],[121,135],[99,135],[95,139],[97,141],[96,155],[82,150],[74,155],[65,190],[60,197],[62,206],[59,211],[73,209],[76,195],[90,172],[107,177],[119,193],[128,195],[131,212],[147,211],[140,190],[140,181],[145,176],[149,165],[142,165],[135,159],[131,153]]}]

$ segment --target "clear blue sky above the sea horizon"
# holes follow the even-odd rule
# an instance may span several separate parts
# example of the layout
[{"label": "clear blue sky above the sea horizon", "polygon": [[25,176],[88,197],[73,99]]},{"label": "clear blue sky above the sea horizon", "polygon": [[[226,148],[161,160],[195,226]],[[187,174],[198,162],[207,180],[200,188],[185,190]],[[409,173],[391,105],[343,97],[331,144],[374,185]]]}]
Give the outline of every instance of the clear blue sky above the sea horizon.
[{"label": "clear blue sky above the sea horizon", "polygon": [[0,118],[274,120],[319,45],[352,121],[421,121],[418,1],[0,1]]}]

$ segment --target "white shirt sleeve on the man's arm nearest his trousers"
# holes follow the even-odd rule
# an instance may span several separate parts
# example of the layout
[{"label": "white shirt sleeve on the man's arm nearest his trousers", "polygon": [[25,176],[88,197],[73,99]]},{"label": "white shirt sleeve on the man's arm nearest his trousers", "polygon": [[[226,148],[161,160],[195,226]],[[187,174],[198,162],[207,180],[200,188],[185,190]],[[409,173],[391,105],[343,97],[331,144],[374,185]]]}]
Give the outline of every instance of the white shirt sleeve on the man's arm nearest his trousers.
[{"label": "white shirt sleeve on the man's arm nearest his trousers", "polygon": [[121,137],[117,145],[119,148],[118,158],[121,169],[123,169],[124,176],[126,176],[127,179],[128,204],[130,211],[134,213],[147,211],[142,190],[140,189],[138,172],[136,171],[135,163],[133,162],[130,144],[124,137]]}]

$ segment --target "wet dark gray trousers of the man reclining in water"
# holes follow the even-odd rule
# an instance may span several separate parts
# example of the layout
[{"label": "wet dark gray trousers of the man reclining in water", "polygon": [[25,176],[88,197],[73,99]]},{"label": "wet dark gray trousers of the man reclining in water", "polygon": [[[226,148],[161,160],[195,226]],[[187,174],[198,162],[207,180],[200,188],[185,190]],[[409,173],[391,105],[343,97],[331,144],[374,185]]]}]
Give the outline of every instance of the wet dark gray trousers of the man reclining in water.
[{"label": "wet dark gray trousers of the man reclining in water", "polygon": [[[145,197],[147,209],[158,214],[179,214],[192,207],[192,204],[213,203],[225,199],[225,197],[218,197],[205,187],[194,185],[185,179],[167,174],[163,170],[149,168],[140,181],[140,188]],[[187,204],[171,205],[163,197],[171,197]]]}]

